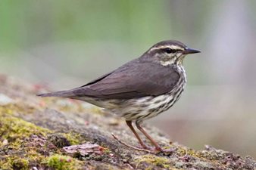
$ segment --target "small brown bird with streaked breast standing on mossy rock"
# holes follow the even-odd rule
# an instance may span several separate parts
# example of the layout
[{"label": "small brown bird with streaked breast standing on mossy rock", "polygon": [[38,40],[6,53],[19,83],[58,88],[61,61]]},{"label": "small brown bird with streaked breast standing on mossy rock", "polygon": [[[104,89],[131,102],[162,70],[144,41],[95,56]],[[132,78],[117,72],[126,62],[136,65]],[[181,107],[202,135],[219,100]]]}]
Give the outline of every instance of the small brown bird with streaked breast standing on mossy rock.
[{"label": "small brown bird with streaked breast standing on mossy rock", "polygon": [[[109,110],[125,119],[142,149],[166,152],[142,128],[142,122],[170,109],[180,99],[187,82],[183,60],[187,54],[200,52],[176,40],[158,42],[140,57],[86,85],[38,96],[83,100]],[[154,147],[142,141],[133,123]]]}]

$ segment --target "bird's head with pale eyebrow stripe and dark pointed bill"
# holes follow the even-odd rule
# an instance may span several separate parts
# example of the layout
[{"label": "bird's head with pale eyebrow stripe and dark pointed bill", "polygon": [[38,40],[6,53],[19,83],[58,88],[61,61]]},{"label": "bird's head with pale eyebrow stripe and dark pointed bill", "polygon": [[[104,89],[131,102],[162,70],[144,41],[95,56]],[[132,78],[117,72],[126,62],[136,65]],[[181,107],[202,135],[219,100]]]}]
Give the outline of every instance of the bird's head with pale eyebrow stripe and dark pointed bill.
[{"label": "bird's head with pale eyebrow stripe and dark pointed bill", "polygon": [[187,54],[200,53],[200,51],[188,48],[182,42],[175,40],[158,42],[146,51],[147,57],[161,63],[163,66],[170,64],[183,64],[183,59]]}]

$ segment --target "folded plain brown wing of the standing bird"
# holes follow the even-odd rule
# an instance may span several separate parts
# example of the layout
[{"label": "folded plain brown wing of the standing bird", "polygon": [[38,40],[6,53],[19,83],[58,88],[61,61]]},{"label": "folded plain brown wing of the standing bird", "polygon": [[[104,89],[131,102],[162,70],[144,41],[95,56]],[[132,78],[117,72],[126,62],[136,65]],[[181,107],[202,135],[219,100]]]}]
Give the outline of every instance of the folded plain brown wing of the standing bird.
[{"label": "folded plain brown wing of the standing bird", "polygon": [[172,67],[133,60],[107,76],[73,89],[72,93],[77,97],[104,99],[157,96],[171,91],[179,79],[180,74]]}]

